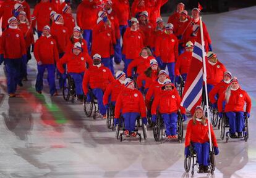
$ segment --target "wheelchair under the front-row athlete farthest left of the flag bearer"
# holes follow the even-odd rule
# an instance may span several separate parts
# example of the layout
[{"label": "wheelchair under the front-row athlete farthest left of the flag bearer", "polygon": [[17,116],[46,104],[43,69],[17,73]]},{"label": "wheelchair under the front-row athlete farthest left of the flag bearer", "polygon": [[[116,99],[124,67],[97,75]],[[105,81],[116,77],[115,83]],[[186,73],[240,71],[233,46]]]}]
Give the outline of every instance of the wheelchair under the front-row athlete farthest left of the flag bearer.
[{"label": "wheelchair under the front-row athlete farthest left of the flag bearer", "polygon": [[[142,142],[142,134],[139,133],[139,127],[142,127],[142,132],[143,132],[143,139],[147,139],[147,125],[142,124],[140,125],[140,116],[136,119],[136,127],[135,127],[135,131],[136,132],[136,137],[131,137],[129,136],[124,136],[124,131],[126,129],[124,129],[124,118],[121,119],[121,121],[119,122],[119,124],[117,124],[116,126],[116,138],[120,140],[120,142],[122,142],[123,139],[135,139],[138,138],[139,142]],[[121,124],[122,122],[122,124]],[[119,134],[120,130],[122,127],[122,132]]]}]

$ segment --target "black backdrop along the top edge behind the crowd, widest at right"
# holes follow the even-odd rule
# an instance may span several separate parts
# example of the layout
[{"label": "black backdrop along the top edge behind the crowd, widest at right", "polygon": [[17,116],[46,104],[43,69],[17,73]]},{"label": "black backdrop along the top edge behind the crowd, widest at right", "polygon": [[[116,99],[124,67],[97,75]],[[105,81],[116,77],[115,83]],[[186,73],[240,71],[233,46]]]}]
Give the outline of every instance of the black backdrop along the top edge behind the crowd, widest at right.
[{"label": "black backdrop along the top edge behind the crowd, widest at right", "polygon": [[[36,2],[40,0],[27,0],[31,6],[35,6]],[[81,0],[70,0],[72,2],[72,9],[76,9],[77,5]],[[134,0],[129,0],[130,4]],[[244,7],[256,6],[255,0],[169,0],[162,8],[162,13],[171,13],[174,12],[176,4],[183,2],[186,5],[186,9],[193,9],[197,7],[197,3],[203,6],[202,12],[226,12],[228,10],[240,9]]]}]

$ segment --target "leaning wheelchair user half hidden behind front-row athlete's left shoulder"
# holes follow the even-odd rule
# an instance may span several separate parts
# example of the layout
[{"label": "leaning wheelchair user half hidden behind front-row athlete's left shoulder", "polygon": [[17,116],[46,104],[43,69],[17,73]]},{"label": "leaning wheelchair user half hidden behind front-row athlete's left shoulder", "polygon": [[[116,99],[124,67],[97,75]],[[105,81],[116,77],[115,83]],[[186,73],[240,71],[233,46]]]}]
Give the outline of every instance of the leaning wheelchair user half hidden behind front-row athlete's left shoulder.
[{"label": "leaning wheelchair user half hidden behind front-row athlete's left shoulder", "polygon": [[114,107],[116,105],[116,99],[119,93],[124,89],[124,81],[126,79],[126,73],[119,70],[116,72],[116,79],[108,84],[106,91],[103,95],[103,104],[106,108],[106,124],[110,129],[114,129]]}]

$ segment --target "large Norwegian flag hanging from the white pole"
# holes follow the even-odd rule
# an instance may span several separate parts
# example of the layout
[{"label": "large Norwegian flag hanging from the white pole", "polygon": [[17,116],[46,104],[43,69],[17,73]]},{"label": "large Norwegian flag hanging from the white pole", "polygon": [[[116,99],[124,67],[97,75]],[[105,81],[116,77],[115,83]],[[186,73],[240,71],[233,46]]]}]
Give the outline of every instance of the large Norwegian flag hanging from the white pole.
[{"label": "large Norwegian flag hanging from the white pole", "polygon": [[[200,28],[198,30],[198,34],[201,34]],[[192,111],[192,113],[197,105],[201,105],[202,101],[203,47],[201,43],[201,35],[197,35],[181,101],[181,106]]]}]

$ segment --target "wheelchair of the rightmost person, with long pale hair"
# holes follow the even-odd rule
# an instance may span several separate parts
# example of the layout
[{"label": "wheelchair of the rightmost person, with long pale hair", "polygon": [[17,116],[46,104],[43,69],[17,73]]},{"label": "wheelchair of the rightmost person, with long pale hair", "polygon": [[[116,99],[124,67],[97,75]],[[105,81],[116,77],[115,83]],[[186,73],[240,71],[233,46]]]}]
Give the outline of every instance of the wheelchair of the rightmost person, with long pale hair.
[{"label": "wheelchair of the rightmost person, with long pale hair", "polygon": [[[244,129],[242,130],[241,139],[244,139],[245,142],[247,142],[247,140],[249,139],[249,121],[248,120],[249,119],[248,119],[247,113],[244,112]],[[228,117],[226,116],[225,113],[223,113],[223,117],[220,118],[220,139],[221,140],[224,140],[226,127],[227,128],[229,127]],[[228,140],[229,140],[229,131],[226,132],[226,143],[228,143]]]}]

